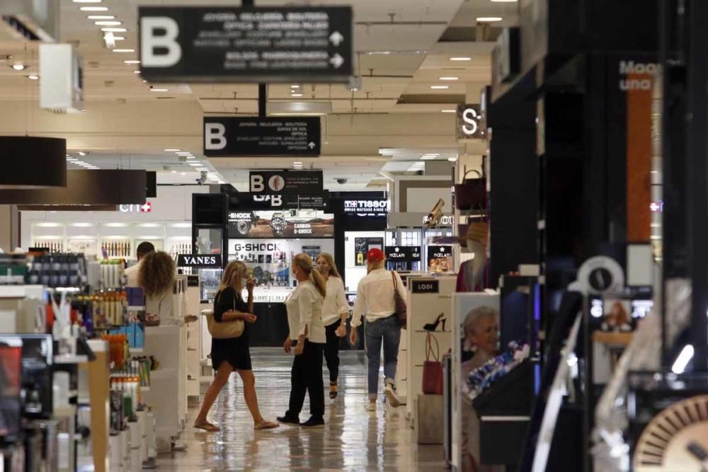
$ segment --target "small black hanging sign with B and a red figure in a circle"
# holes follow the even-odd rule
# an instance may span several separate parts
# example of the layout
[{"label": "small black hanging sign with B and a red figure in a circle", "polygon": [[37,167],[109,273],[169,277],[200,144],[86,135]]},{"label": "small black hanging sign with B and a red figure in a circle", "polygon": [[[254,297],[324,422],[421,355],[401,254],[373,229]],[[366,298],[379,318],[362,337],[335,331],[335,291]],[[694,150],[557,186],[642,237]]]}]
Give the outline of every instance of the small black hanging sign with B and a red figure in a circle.
[{"label": "small black hanging sign with B and a red figure in a circle", "polygon": [[251,171],[256,195],[322,195],[322,171]]}]

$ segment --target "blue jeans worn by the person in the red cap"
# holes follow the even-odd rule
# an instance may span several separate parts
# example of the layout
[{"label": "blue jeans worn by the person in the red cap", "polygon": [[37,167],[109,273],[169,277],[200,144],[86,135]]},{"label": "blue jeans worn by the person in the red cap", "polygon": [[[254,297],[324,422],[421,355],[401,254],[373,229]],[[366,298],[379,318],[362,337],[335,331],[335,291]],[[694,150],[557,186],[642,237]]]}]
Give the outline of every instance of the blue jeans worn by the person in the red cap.
[{"label": "blue jeans worn by the person in the red cap", "polygon": [[369,398],[376,398],[379,388],[379,367],[381,366],[381,345],[384,345],[384,380],[392,386],[396,384],[396,364],[401,343],[401,327],[396,315],[366,323],[366,355],[369,360]]}]

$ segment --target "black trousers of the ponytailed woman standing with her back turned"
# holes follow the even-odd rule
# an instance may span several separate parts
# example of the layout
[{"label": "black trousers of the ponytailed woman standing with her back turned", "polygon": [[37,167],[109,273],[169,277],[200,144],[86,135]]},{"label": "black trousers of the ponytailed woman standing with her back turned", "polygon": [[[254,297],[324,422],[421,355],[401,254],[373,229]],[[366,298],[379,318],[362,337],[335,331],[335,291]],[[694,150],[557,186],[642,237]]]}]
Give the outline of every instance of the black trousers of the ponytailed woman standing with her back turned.
[{"label": "black trousers of the ponytailed woman standing with her back turned", "polygon": [[302,354],[295,356],[290,371],[289,418],[297,418],[305,401],[305,392],[309,393],[310,415],[324,418],[324,381],[322,380],[322,351],[324,344],[310,343],[305,340]]}]

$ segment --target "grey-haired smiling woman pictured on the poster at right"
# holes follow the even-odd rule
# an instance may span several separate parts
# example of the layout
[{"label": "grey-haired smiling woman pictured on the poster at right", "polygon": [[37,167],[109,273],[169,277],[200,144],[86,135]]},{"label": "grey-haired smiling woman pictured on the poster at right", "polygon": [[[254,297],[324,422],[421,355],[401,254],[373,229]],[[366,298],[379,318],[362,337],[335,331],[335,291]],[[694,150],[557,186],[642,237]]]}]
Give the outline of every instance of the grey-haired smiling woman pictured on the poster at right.
[{"label": "grey-haired smiling woman pictured on the poster at right", "polygon": [[[462,380],[467,385],[467,376],[486,364],[498,353],[499,321],[496,309],[490,306],[478,306],[472,309],[462,323],[467,343],[474,351],[472,359],[462,362]],[[464,388],[464,387],[463,387]],[[467,395],[462,396],[462,472],[501,472],[502,466],[479,464],[479,420],[472,410],[472,401]]]}]

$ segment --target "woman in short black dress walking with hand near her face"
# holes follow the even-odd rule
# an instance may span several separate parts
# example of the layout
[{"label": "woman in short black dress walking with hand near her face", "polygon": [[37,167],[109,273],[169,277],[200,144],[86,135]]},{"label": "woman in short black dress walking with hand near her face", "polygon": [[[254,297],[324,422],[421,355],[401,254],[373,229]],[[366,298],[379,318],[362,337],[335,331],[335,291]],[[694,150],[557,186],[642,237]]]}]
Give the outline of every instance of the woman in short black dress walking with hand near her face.
[{"label": "woman in short black dress walking with hand near her face", "polygon": [[[214,298],[214,319],[218,323],[243,320],[246,323],[255,323],[256,315],[253,314],[253,279],[247,278],[249,270],[237,260],[232,260],[224,270],[221,284]],[[248,302],[244,301],[241,293],[244,288],[249,294]],[[253,417],[253,427],[256,430],[270,430],[278,427],[278,423],[267,421],[258,409],[258,396],[256,396],[256,376],[253,375],[251,366],[251,352],[249,350],[248,328],[238,338],[216,339],[212,338],[212,367],[216,371],[214,381],[204,395],[202,408],[194,422],[194,427],[206,431],[218,431],[216,425],[207,421],[207,415],[212,408],[219,392],[229,381],[229,376],[236,371],[244,383],[244,399]]]}]

